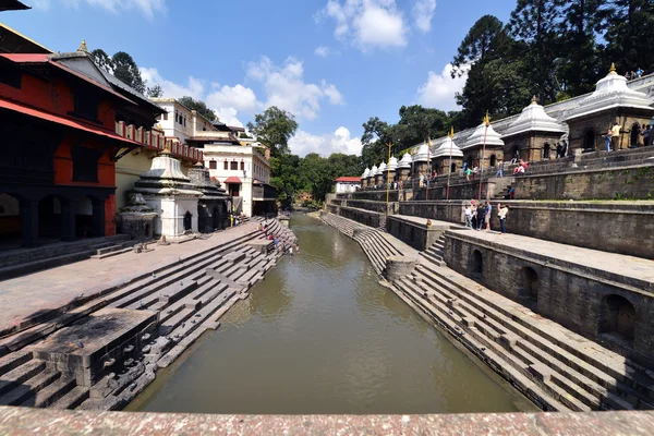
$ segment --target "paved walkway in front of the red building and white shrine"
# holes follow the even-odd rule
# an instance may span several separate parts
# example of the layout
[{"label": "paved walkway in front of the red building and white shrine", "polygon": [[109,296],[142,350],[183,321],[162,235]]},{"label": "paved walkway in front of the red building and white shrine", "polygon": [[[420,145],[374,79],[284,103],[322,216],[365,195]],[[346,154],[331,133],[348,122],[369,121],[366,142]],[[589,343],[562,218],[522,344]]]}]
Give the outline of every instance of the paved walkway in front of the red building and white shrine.
[{"label": "paved walkway in front of the red building and white shrine", "polygon": [[87,259],[39,272],[0,281],[0,331],[20,325],[39,312],[63,307],[75,299],[98,294],[157,266],[204,252],[253,231],[258,223],[245,225],[215,233],[206,240],[160,246],[148,253],[124,253],[105,259]]}]

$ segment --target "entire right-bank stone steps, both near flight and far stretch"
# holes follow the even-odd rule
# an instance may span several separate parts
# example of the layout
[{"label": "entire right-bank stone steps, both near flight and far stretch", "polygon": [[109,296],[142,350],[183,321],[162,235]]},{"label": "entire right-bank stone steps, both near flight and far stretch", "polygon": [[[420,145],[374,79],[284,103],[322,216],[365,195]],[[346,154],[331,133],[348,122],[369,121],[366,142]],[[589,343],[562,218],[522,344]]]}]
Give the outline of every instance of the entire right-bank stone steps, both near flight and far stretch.
[{"label": "entire right-bank stone steps, both near flight and far stretch", "polygon": [[[322,218],[359,240],[379,274],[386,256],[414,255],[376,229]],[[444,266],[444,249],[439,240],[422,252],[392,290],[535,404],[546,411],[654,409],[652,372]]]}]

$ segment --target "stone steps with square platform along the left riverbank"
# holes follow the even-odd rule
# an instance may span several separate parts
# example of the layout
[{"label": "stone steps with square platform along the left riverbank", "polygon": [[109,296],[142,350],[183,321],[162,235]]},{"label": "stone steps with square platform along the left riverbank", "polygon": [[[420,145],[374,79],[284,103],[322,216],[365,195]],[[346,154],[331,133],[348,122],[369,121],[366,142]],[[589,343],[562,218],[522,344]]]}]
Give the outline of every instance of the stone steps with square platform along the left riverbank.
[{"label": "stone steps with square platform along the left riverbank", "polygon": [[[241,238],[158,268],[47,323],[0,340],[0,405],[119,410],[275,266],[291,230]],[[9,353],[8,353],[9,352]]]}]

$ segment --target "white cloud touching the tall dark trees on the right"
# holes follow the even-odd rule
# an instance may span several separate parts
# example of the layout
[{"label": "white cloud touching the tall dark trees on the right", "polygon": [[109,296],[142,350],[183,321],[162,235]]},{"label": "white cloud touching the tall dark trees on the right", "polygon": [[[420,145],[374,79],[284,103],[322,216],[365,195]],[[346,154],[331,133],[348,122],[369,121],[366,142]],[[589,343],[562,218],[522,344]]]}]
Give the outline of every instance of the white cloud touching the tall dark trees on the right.
[{"label": "white cloud touching the tall dark trees on the right", "polygon": [[440,110],[458,110],[460,106],[455,100],[455,94],[460,93],[465,85],[469,68],[463,68],[462,76],[451,77],[452,64],[448,63],[440,74],[429,71],[427,82],[417,89],[417,102]]}]

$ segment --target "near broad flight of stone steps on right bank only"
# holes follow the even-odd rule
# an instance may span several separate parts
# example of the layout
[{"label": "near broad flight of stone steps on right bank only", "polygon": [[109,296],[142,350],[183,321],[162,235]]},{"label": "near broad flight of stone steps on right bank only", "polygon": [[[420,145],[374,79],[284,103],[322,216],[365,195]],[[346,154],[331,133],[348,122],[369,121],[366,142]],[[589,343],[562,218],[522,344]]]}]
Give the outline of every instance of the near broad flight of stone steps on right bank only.
[{"label": "near broad flight of stone steps on right bank only", "polygon": [[654,408],[644,368],[448,268],[424,259],[397,287],[455,337],[474,339],[476,353],[493,352],[497,367],[536,384],[547,401],[574,411]]}]

